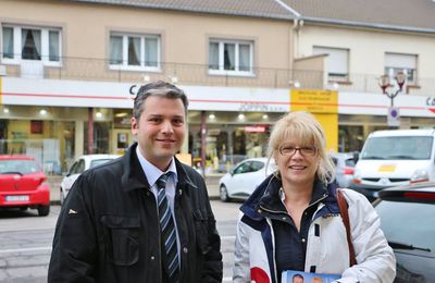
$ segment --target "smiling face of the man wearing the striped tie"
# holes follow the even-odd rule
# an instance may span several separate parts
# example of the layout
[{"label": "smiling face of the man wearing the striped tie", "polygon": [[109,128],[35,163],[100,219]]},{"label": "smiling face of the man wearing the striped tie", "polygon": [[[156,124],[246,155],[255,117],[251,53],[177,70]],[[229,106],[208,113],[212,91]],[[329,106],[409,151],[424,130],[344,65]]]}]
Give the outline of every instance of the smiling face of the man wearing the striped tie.
[{"label": "smiling face of the man wearing the striped tie", "polygon": [[132,118],[132,133],[137,135],[140,153],[165,171],[179,150],[186,134],[185,109],[181,99],[148,97],[139,120]]}]

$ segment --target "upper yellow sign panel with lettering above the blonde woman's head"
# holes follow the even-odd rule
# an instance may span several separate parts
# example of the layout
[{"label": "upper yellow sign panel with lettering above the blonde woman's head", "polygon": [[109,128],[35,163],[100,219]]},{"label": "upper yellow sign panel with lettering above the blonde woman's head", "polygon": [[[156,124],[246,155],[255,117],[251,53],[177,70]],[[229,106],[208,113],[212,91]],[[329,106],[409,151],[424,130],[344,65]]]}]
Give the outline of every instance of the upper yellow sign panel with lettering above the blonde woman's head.
[{"label": "upper yellow sign panel with lettering above the blonde woman's head", "polygon": [[291,89],[290,110],[311,113],[338,113],[336,90]]}]

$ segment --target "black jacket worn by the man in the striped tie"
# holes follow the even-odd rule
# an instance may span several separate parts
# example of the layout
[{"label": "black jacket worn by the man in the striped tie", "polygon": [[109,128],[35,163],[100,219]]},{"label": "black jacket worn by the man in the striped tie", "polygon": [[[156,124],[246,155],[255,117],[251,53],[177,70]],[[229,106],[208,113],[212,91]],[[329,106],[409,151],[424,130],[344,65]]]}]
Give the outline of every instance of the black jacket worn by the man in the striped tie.
[{"label": "black jacket worn by the man in the striped tie", "polygon": [[[84,172],[59,216],[48,282],[165,282],[159,218],[136,156]],[[221,282],[221,239],[203,179],[176,161],[181,282]]]}]

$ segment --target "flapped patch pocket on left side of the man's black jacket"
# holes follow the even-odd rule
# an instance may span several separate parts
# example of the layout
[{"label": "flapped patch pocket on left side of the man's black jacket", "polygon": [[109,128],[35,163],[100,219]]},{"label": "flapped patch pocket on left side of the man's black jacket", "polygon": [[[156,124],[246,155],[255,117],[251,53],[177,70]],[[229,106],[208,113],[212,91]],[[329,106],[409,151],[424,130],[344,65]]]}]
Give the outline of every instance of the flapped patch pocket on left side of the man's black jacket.
[{"label": "flapped patch pocket on left side of the man's black jacket", "polygon": [[130,266],[139,260],[138,217],[102,216],[102,224],[107,227],[109,256],[114,264]]}]

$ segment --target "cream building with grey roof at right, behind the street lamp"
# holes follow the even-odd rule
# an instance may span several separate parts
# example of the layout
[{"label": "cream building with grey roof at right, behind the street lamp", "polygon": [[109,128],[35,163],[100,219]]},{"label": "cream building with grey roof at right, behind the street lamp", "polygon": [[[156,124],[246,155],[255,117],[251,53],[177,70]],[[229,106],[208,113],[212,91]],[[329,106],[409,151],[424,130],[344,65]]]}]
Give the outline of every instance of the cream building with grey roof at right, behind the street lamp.
[{"label": "cream building with grey roof at right, behind the street lamp", "polygon": [[[433,127],[433,1],[283,2],[296,19],[295,64],[316,60],[324,70],[323,87],[338,91],[339,151],[359,150],[369,133],[390,124]],[[407,75],[403,89],[389,99],[382,95],[380,77],[390,78],[388,93],[395,94],[399,72]],[[398,121],[388,123],[388,115],[396,110]]]}]

